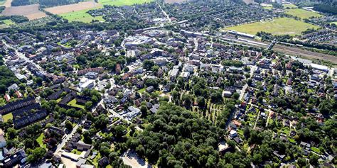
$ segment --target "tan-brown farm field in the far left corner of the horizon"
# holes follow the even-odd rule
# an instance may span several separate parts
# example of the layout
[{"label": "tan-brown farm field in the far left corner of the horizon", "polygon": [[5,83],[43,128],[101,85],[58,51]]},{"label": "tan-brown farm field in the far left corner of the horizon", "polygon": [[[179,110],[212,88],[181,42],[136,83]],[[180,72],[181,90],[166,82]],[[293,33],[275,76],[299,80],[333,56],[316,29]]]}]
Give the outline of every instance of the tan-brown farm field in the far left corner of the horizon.
[{"label": "tan-brown farm field in the far left corner of the horizon", "polygon": [[11,6],[6,8],[2,14],[4,16],[12,16],[12,15],[21,15],[26,16],[29,20],[33,20],[36,18],[46,17],[46,13],[38,10],[38,4],[27,5],[27,6]]}]

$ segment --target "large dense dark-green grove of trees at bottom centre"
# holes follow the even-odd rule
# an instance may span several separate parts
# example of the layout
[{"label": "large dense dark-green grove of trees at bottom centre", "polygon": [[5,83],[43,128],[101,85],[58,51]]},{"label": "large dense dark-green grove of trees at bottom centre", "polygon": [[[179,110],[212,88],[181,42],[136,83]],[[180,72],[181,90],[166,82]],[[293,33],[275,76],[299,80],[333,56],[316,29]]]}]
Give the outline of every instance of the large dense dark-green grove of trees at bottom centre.
[{"label": "large dense dark-green grove of trees at bottom centre", "polygon": [[159,167],[215,167],[219,161],[218,130],[212,123],[172,103],[149,116],[146,129],[130,147]]}]

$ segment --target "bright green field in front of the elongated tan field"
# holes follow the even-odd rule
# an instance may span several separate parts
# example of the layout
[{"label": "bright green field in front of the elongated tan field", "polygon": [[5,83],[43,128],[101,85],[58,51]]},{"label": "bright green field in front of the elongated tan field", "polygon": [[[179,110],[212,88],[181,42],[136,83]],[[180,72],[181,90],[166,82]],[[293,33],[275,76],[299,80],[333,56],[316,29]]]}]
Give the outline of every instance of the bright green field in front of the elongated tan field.
[{"label": "bright green field in front of the elongated tan field", "polygon": [[63,13],[63,14],[60,14],[60,16],[62,16],[63,18],[67,19],[70,22],[81,21],[84,23],[90,23],[92,20],[105,21],[103,19],[103,16],[92,17],[89,13],[87,13],[87,11],[89,10],[90,9]]}]

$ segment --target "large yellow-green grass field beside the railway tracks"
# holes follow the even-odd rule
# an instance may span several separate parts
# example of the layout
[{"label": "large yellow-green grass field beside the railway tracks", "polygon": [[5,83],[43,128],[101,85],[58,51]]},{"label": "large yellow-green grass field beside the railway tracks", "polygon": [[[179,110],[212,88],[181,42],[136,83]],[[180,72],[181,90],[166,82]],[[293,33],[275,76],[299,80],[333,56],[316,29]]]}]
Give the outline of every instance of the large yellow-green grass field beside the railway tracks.
[{"label": "large yellow-green grass field beside the railway tracks", "polygon": [[302,21],[296,21],[294,18],[275,18],[272,21],[247,23],[225,29],[236,30],[252,35],[255,35],[259,31],[272,33],[273,35],[298,35],[308,28],[319,28],[319,26],[314,26]]}]

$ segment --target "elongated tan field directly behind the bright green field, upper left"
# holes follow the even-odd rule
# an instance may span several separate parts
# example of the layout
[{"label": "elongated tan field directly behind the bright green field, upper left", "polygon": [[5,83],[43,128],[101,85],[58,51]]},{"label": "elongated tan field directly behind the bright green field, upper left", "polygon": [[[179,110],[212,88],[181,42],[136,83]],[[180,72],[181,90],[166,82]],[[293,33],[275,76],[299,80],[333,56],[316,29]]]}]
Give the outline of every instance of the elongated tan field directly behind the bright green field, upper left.
[{"label": "elongated tan field directly behind the bright green field, upper left", "polygon": [[84,11],[89,9],[95,9],[101,7],[101,4],[92,3],[92,1],[80,2],[77,4],[55,6],[52,8],[45,9],[46,11],[53,14],[63,14],[63,13],[72,13],[76,11]]}]

